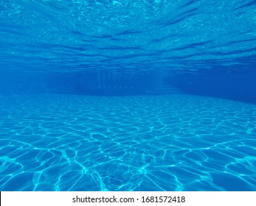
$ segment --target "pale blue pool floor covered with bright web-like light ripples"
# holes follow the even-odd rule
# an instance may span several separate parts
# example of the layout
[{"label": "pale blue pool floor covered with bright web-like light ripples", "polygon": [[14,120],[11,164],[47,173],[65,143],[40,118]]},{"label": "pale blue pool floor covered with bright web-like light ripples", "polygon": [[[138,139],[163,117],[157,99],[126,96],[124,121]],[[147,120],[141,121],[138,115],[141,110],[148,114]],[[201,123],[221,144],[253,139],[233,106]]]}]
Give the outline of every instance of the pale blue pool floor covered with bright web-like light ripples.
[{"label": "pale blue pool floor covered with bright web-like light ripples", "polygon": [[253,104],[188,95],[0,102],[1,191],[256,191]]}]

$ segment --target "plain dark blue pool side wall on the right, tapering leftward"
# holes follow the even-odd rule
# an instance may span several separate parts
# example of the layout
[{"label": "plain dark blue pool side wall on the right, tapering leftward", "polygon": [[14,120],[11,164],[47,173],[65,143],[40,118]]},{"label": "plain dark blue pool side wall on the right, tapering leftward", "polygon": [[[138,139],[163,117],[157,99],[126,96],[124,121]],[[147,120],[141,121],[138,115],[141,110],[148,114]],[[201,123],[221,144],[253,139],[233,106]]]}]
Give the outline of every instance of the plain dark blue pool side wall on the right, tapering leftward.
[{"label": "plain dark blue pool side wall on the right, tapering leftward", "polygon": [[165,79],[184,93],[256,104],[256,71],[246,73],[183,74]]}]

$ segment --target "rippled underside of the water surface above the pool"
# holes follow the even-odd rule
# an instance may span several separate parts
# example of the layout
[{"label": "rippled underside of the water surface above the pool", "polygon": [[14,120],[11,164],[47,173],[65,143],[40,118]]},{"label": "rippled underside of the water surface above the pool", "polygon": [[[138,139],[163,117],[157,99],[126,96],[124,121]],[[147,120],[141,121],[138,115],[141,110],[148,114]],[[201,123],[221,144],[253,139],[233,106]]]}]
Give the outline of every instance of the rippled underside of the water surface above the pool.
[{"label": "rippled underside of the water surface above the pool", "polygon": [[1,70],[184,73],[255,63],[255,1],[1,0],[0,8]]}]

